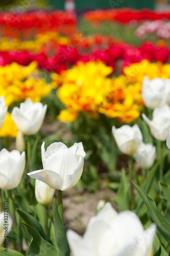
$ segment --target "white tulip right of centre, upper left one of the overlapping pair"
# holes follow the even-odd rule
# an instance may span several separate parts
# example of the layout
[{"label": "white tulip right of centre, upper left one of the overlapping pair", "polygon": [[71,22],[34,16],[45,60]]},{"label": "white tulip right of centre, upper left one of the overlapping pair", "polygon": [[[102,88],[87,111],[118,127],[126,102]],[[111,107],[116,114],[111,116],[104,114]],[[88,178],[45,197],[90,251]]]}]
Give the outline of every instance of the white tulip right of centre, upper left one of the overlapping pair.
[{"label": "white tulip right of centre, upper left one of the overlapping pair", "polygon": [[132,127],[125,124],[118,129],[112,126],[112,134],[119,150],[126,155],[134,154],[142,142],[142,134],[137,124]]}]

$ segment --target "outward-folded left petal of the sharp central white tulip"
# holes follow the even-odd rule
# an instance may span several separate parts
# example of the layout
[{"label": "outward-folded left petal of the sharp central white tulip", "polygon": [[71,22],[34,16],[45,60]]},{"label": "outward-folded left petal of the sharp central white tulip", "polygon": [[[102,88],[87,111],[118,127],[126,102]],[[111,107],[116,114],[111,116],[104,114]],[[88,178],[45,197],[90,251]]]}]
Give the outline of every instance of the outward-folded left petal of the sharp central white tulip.
[{"label": "outward-folded left petal of the sharp central white tulip", "polygon": [[59,174],[53,172],[53,170],[35,170],[27,175],[31,178],[44,182],[54,189],[60,190],[63,185],[63,179]]}]

